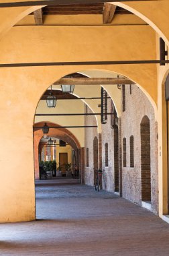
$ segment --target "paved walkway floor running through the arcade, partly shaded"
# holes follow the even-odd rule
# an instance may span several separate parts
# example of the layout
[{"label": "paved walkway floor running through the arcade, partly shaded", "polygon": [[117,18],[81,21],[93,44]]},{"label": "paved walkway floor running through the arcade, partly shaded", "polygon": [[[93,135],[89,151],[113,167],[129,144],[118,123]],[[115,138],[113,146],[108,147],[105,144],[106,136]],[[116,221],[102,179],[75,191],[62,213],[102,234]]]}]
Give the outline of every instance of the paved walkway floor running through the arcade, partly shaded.
[{"label": "paved walkway floor running through the arcade, partly shaded", "polygon": [[169,255],[169,224],[75,180],[38,181],[36,212],[36,222],[0,225],[0,255]]}]

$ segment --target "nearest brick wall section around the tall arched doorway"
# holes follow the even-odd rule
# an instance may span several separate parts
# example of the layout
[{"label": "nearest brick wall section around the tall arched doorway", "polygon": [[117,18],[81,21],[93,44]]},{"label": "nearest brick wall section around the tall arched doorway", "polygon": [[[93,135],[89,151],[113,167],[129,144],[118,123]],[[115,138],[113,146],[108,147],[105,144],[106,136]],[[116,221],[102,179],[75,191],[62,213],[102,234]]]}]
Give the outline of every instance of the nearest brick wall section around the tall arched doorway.
[{"label": "nearest brick wall section around the tall arched doorway", "polygon": [[[121,97],[122,98],[122,97]],[[121,99],[122,104],[122,99]],[[122,167],[123,180],[123,197],[133,201],[134,203],[142,204],[143,200],[150,199],[144,196],[143,179],[147,179],[145,187],[150,187],[148,177],[148,166],[143,166],[144,158],[148,158],[148,154],[142,153],[145,149],[145,141],[148,142],[148,133],[145,127],[141,127],[142,119],[147,116],[150,120],[150,170],[151,170],[151,203],[152,212],[158,214],[158,133],[157,123],[154,117],[154,108],[152,104],[137,86],[131,86],[131,94],[129,86],[125,86],[125,111],[121,115],[121,137],[126,138],[126,167]],[[133,158],[134,167],[130,167],[130,137],[133,135]],[[144,139],[143,139],[144,138]],[[142,142],[142,148],[141,148]],[[148,146],[147,146],[148,147]],[[142,154],[141,154],[142,153]],[[142,156],[142,157],[141,157]],[[148,163],[148,159],[146,159]],[[145,167],[145,168],[144,168]],[[146,169],[147,168],[147,169]],[[144,170],[144,172],[142,171]],[[148,181],[149,179],[149,181]],[[143,197],[143,198],[142,198]]]}]

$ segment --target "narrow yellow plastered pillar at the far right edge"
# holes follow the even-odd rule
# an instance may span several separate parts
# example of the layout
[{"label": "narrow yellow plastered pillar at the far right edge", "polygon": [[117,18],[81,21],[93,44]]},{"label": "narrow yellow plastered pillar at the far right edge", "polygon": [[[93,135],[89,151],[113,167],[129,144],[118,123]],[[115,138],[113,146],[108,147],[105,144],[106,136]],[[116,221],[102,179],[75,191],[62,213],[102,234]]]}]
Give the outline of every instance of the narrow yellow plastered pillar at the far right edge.
[{"label": "narrow yellow plastered pillar at the far right edge", "polygon": [[[159,35],[156,34],[156,54],[159,59]],[[167,130],[166,100],[164,82],[169,66],[157,65],[158,73],[158,181],[159,181],[159,214],[168,214],[168,167],[167,167]]]}]

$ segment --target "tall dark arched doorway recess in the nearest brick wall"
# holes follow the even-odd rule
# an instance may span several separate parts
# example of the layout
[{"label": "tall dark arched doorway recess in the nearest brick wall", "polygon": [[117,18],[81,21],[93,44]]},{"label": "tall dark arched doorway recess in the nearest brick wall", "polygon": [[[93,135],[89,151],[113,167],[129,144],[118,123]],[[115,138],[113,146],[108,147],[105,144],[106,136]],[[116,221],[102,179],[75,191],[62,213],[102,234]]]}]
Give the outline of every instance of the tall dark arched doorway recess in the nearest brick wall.
[{"label": "tall dark arched doorway recess in the nearest brick wall", "polygon": [[142,201],[151,201],[150,119],[144,116],[140,124]]}]

